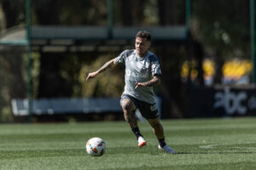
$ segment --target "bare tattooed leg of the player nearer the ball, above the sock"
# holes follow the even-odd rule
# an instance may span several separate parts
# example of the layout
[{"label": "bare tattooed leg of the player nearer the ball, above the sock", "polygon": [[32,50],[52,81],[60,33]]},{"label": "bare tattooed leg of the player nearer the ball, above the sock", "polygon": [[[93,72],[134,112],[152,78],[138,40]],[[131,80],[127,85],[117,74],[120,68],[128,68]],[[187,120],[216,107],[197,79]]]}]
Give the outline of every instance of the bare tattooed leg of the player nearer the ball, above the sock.
[{"label": "bare tattooed leg of the player nearer the ball, above the sock", "polygon": [[131,128],[137,127],[137,118],[135,116],[136,106],[131,99],[125,98],[121,101],[121,106],[124,111],[125,121],[129,123]]}]

